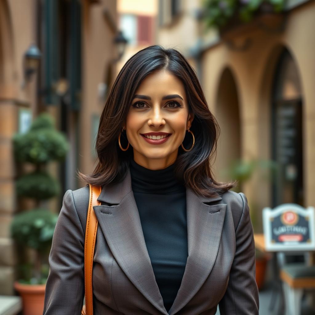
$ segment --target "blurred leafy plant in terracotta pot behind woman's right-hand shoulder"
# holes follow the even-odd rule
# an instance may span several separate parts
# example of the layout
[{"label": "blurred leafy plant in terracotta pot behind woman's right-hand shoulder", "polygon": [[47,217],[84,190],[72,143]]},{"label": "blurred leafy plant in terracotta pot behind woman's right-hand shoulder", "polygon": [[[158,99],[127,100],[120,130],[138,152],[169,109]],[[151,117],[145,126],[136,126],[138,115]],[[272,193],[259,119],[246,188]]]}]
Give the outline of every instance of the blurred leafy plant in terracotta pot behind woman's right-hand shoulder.
[{"label": "blurred leafy plant in terracotta pot behind woman's right-hand shoulder", "polygon": [[[227,169],[223,170],[223,173],[228,174],[230,178],[233,180],[238,180],[238,186],[235,187],[235,191],[239,192],[240,186],[242,183],[249,180],[255,171],[258,169],[261,170],[269,170],[272,172],[276,172],[278,170],[278,164],[271,160],[250,160],[250,161],[242,161],[235,160]],[[269,179],[269,175],[271,173],[267,173],[267,179]],[[250,209],[250,218],[253,225],[253,230],[257,231],[257,205],[254,202],[249,204]],[[265,283],[265,275],[266,275],[266,266],[267,261],[271,258],[270,254],[266,254],[258,249],[255,249],[256,256],[256,283],[258,289],[261,289]]]}]

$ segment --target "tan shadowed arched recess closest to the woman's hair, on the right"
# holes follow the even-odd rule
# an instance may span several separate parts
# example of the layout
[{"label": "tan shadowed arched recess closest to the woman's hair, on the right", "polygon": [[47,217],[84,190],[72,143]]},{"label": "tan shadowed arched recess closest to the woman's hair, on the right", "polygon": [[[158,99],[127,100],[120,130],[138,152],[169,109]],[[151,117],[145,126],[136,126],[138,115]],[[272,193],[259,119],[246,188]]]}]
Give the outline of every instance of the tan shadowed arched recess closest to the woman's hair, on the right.
[{"label": "tan shadowed arched recess closest to the woman's hair, on the right", "polygon": [[241,157],[238,92],[229,68],[222,72],[216,100],[215,116],[221,129],[216,166],[219,180],[229,181],[233,178],[228,170]]}]

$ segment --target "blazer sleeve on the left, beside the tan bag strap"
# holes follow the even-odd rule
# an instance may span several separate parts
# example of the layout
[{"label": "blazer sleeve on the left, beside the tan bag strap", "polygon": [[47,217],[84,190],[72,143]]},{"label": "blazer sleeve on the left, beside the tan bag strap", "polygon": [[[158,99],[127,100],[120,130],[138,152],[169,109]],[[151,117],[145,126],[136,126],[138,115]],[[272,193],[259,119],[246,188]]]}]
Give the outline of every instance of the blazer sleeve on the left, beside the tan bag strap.
[{"label": "blazer sleeve on the left, beside the tan bag strap", "polygon": [[67,190],[49,253],[43,315],[80,315],[84,299],[85,232]]}]

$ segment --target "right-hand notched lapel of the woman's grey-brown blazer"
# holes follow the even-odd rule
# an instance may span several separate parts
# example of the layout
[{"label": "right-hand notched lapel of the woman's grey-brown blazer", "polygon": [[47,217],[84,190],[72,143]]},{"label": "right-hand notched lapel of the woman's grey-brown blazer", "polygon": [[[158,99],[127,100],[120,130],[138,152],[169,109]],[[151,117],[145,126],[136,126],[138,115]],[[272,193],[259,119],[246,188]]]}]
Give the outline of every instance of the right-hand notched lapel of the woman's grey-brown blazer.
[{"label": "right-hand notched lapel of the woman's grey-brown blazer", "polygon": [[206,203],[219,200],[222,200],[219,194],[213,198],[199,197],[186,187],[188,258],[169,315],[180,311],[192,299],[212,270],[219,249],[226,204]]}]

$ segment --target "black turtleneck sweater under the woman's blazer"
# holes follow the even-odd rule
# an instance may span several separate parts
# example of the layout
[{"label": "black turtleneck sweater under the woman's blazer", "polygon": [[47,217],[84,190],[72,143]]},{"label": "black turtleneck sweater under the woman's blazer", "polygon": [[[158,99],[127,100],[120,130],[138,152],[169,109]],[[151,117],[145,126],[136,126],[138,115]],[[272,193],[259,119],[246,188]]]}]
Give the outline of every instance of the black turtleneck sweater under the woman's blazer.
[{"label": "black turtleneck sweater under the woman's blazer", "polygon": [[175,178],[174,166],[152,170],[130,162],[146,248],[167,311],[177,295],[188,256],[186,188]]}]

